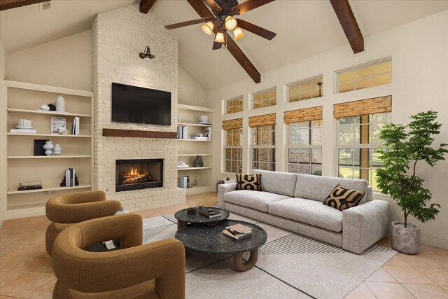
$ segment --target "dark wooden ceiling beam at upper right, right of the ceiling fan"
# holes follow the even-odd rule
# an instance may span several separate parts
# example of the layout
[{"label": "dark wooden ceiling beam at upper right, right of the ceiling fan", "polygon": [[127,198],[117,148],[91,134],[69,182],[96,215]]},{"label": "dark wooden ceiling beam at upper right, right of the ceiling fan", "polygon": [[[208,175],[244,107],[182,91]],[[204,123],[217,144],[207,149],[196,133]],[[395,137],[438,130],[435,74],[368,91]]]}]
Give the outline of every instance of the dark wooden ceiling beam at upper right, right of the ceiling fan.
[{"label": "dark wooden ceiling beam at upper right, right of the ceiling fan", "polygon": [[349,40],[353,53],[360,53],[364,50],[364,38],[361,33],[355,15],[351,11],[349,0],[330,0],[333,10],[336,13],[345,36]]}]

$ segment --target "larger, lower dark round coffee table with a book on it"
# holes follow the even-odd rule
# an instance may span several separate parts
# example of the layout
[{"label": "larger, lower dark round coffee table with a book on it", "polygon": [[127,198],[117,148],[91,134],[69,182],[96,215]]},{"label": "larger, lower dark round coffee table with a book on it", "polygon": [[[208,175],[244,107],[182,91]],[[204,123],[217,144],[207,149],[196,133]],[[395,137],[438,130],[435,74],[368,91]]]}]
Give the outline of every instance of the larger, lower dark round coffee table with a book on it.
[{"label": "larger, lower dark round coffee table with a book on it", "polygon": [[[233,239],[223,234],[226,226],[241,223],[252,228],[251,237]],[[251,269],[258,260],[258,247],[265,244],[267,233],[260,226],[246,221],[224,220],[215,226],[193,223],[179,228],[176,232],[179,239],[188,249],[204,253],[230,253],[233,254],[233,263],[238,271]],[[243,253],[250,251],[249,259],[244,262]]]}]

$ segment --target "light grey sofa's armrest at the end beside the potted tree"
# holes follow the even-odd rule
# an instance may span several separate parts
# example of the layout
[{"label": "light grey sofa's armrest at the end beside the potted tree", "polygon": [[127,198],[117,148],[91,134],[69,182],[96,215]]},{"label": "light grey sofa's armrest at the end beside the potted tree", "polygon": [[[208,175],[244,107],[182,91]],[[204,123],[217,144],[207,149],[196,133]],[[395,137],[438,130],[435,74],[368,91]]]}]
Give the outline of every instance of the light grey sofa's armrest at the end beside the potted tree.
[{"label": "light grey sofa's armrest at the end beside the potted tree", "polygon": [[386,237],[389,228],[389,203],[372,200],[342,213],[342,248],[362,253]]}]

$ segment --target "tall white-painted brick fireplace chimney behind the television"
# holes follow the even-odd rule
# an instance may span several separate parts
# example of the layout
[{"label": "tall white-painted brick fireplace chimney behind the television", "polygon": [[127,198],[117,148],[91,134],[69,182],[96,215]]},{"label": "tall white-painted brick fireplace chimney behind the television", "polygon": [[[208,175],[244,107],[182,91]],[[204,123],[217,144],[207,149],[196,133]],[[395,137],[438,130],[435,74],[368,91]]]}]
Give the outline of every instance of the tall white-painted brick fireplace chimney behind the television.
[{"label": "tall white-painted brick fireplace chimney behind the television", "polygon": [[[150,46],[155,59],[140,59],[139,53],[145,46]],[[137,3],[99,13],[92,27],[92,48],[94,188],[104,190],[108,199],[119,200],[129,211],[185,203],[186,190],[177,187],[176,139],[103,134],[103,129],[176,132],[179,68],[176,37],[151,11],[146,15],[140,13]],[[112,122],[112,82],[171,92],[172,125]],[[116,171],[116,161],[145,159],[163,161],[162,186],[117,191],[120,174]]]}]

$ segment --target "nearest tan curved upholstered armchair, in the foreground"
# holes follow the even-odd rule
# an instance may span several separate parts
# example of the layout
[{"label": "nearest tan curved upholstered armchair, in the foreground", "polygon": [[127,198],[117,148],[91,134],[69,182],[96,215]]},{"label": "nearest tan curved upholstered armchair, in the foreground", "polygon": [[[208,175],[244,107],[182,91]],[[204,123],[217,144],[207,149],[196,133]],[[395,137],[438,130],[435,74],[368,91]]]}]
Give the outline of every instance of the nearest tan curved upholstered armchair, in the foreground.
[{"label": "nearest tan curved upholstered armchair, in the foreground", "polygon": [[[137,214],[76,223],[53,245],[57,282],[53,298],[185,298],[185,249],[176,239],[142,245],[143,224]],[[83,248],[120,239],[120,250]]]}]

